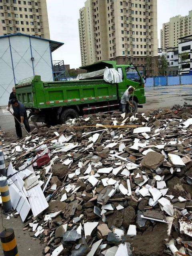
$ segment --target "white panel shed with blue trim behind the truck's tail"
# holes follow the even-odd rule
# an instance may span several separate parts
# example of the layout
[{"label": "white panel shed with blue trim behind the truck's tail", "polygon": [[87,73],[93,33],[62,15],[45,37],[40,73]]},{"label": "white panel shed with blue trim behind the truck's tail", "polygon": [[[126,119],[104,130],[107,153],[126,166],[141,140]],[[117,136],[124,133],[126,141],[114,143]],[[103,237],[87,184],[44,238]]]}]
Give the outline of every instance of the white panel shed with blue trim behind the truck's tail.
[{"label": "white panel shed with blue trim behind the truck's tail", "polygon": [[21,33],[0,36],[0,106],[7,105],[12,87],[24,78],[40,75],[53,81],[52,52],[62,45]]}]

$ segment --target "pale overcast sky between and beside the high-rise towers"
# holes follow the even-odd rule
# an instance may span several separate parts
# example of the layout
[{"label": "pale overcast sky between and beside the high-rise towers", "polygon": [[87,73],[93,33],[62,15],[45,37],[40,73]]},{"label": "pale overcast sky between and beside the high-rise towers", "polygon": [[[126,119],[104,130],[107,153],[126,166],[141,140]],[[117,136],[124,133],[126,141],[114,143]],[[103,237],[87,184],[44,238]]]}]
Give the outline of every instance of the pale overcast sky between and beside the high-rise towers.
[{"label": "pale overcast sky between and beside the high-rise towers", "polygon": [[[84,2],[85,0],[47,0],[50,38],[64,42],[53,53],[53,60],[64,60],[65,64],[70,64],[70,68],[81,66],[78,18],[79,9],[84,6]],[[158,38],[160,39],[163,23],[178,14],[188,15],[189,10],[192,10],[192,0],[158,0]]]}]

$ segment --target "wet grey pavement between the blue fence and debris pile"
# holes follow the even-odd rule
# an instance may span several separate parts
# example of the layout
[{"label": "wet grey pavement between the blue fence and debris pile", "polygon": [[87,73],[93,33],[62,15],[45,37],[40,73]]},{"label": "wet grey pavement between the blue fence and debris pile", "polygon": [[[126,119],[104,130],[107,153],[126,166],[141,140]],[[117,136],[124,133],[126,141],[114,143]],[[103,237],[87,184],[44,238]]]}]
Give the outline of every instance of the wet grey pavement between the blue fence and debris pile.
[{"label": "wet grey pavement between the blue fence and debris pile", "polygon": [[192,104],[192,84],[175,86],[146,87],[146,104],[140,110],[170,107],[174,104]]}]

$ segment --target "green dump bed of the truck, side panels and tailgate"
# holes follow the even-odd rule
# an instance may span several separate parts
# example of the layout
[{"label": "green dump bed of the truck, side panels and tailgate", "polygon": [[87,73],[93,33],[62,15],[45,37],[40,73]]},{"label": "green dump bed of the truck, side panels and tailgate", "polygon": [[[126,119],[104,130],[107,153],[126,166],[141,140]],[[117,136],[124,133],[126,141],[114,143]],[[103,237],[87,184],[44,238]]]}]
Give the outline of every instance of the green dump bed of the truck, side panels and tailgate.
[{"label": "green dump bed of the truck, side panels and tailgate", "polygon": [[17,99],[26,108],[50,108],[117,100],[117,84],[102,79],[42,82],[40,76],[16,85]]}]

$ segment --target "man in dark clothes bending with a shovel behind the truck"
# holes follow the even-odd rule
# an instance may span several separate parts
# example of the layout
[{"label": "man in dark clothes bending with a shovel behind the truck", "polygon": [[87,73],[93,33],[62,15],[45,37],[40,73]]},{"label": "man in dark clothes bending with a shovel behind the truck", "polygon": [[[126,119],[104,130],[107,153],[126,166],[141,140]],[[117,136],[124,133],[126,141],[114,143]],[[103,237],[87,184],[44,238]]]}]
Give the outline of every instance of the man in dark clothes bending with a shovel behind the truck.
[{"label": "man in dark clothes bending with a shovel behind the truck", "polygon": [[7,107],[7,110],[10,110],[10,105],[12,105],[14,116],[19,120],[19,122],[14,118],[15,120],[15,129],[18,139],[22,138],[22,130],[21,127],[25,127],[28,132],[31,131],[28,118],[27,118],[27,112],[22,104],[22,102],[18,101],[17,99],[9,100],[9,104]]}]

